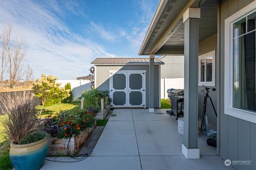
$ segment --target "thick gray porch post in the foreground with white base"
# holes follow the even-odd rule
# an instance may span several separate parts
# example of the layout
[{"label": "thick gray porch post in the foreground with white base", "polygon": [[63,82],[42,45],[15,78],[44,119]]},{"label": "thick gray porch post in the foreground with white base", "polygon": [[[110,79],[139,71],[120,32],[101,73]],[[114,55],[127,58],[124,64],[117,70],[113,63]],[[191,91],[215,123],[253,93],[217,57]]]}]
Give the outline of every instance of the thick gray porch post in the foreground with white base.
[{"label": "thick gray porch post in the foreground with white base", "polygon": [[188,8],[183,14],[184,28],[184,134],[182,154],[199,159],[198,135],[198,20],[200,8]]}]

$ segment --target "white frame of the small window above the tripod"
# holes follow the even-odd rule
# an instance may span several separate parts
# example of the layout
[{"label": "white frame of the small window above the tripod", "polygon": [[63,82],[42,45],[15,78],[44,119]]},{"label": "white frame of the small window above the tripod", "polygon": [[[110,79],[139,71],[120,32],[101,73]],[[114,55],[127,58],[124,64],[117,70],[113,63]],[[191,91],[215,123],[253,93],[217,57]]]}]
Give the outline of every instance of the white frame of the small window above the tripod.
[{"label": "white frame of the small window above the tripod", "polygon": [[[201,60],[212,56],[212,81],[206,81],[206,63],[204,67],[204,80],[201,81]],[[198,57],[198,86],[215,86],[215,50]]]}]

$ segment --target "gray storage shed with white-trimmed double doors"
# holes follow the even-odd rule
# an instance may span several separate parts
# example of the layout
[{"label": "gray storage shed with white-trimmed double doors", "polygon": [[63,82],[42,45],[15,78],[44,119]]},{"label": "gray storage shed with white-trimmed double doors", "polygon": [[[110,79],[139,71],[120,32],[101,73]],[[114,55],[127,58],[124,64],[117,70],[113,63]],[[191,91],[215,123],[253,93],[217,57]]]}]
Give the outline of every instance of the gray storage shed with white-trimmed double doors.
[{"label": "gray storage shed with white-trimmed double doors", "polygon": [[149,107],[149,97],[154,97],[154,108],[161,107],[159,58],[154,59],[154,96],[149,96],[149,58],[96,58],[94,85],[108,90],[113,99],[111,107]]}]

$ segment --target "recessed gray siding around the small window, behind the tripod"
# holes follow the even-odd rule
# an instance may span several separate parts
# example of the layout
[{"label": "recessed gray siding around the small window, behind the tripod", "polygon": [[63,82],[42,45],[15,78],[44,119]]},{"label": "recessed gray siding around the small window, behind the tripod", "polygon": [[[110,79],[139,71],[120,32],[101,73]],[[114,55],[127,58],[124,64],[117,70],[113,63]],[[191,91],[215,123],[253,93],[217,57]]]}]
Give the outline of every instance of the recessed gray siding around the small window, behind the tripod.
[{"label": "recessed gray siding around the small window, behind the tripod", "polygon": [[[203,55],[205,53],[209,53],[212,52],[213,50],[215,50],[215,53],[217,52],[217,33],[215,33],[213,36],[206,38],[202,41],[199,42],[199,55]],[[217,55],[215,54],[215,59]],[[217,60],[215,60],[217,61]],[[217,74],[217,69],[215,69],[215,75]],[[217,88],[217,83],[218,80],[217,78],[215,78],[215,87],[211,87],[211,88]],[[201,123],[201,117],[203,114],[203,104],[204,104],[204,92],[202,92],[201,90],[203,90],[204,88],[202,86],[198,86],[198,112],[199,112],[199,122]],[[213,104],[215,109],[217,109],[217,91],[212,91],[210,90],[209,95],[212,98]],[[207,104],[211,104],[210,103],[210,99],[207,99]],[[214,114],[213,108],[211,106],[207,106],[206,107],[206,115],[209,121],[209,126],[212,129],[217,129],[217,118]]]}]

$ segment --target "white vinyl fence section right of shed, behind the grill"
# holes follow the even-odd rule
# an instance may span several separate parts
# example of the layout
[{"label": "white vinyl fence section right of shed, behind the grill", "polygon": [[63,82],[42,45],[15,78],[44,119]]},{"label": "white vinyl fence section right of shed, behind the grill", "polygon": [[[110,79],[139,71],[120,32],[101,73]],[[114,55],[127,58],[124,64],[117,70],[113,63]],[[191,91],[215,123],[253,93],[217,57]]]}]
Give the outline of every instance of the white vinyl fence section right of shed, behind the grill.
[{"label": "white vinyl fence section right of shed, behind the grill", "polygon": [[161,79],[161,99],[167,99],[167,89],[184,89],[184,79]]}]

